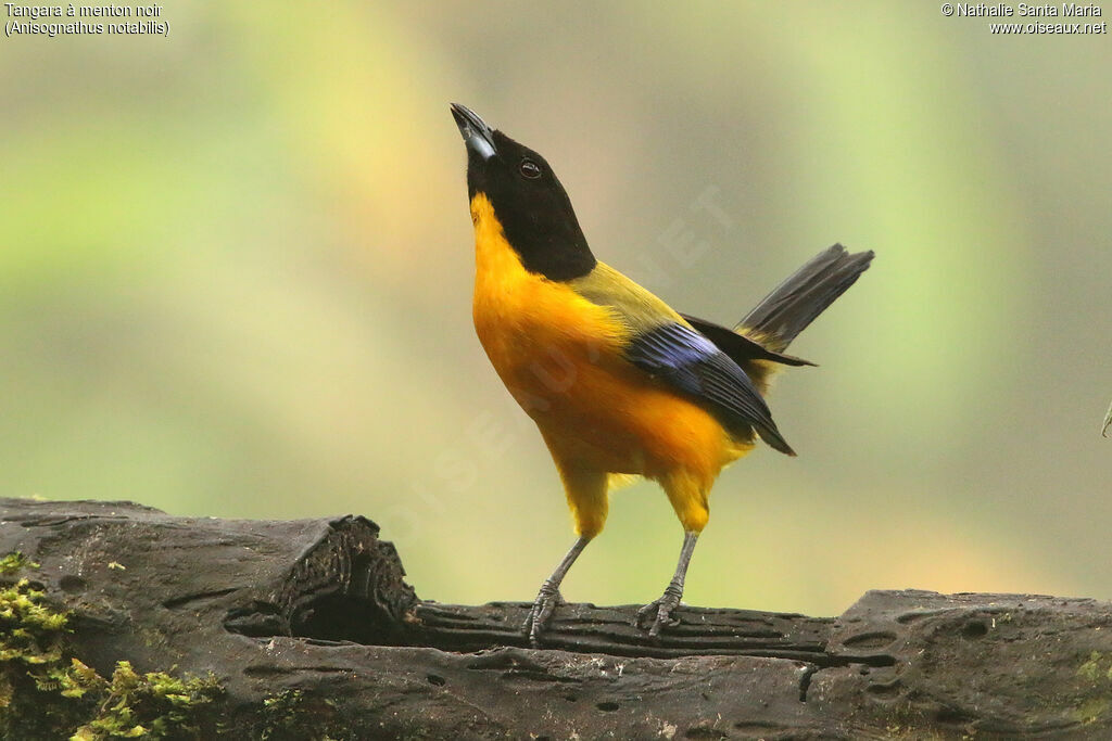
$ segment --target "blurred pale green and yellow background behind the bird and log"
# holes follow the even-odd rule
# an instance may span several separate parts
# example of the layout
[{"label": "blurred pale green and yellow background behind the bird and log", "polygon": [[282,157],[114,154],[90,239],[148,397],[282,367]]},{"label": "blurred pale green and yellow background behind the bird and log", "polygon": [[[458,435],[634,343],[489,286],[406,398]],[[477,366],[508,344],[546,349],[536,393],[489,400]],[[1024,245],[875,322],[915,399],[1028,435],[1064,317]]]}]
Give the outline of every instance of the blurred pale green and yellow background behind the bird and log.
[{"label": "blurred pale green and yellow background behind the bird and log", "polygon": [[[357,512],[423,597],[532,599],[573,534],[471,329],[459,101],[681,310],[731,322],[834,241],[877,252],[774,390],[800,458],[715,488],[688,602],[1112,597],[1109,36],[930,2],[162,19],[0,40],[0,494]],[[651,600],[681,538],[655,485],[619,491],[564,593]]]}]

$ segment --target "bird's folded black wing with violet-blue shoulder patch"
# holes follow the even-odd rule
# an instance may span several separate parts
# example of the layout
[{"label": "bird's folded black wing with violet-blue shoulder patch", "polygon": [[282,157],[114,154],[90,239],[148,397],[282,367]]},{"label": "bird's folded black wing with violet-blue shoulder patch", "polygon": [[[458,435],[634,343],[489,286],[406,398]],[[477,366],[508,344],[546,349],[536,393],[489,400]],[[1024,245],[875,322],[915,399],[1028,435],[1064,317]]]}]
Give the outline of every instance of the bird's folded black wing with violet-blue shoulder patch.
[{"label": "bird's folded black wing with violet-blue shoulder patch", "polygon": [[702,402],[731,432],[756,430],[770,445],[794,455],[753,381],[714,342],[668,323],[634,337],[626,360]]}]

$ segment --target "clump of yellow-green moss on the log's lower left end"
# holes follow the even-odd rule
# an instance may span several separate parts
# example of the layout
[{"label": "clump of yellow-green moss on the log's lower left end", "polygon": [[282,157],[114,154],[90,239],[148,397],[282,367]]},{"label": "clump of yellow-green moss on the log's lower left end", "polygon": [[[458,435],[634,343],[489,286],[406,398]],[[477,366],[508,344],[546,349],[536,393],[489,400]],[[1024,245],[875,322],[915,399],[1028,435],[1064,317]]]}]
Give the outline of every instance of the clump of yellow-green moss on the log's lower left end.
[{"label": "clump of yellow-green moss on the log's lower left end", "polygon": [[[21,553],[0,559],[0,574],[37,568]],[[72,655],[69,615],[27,579],[0,585],[0,738],[200,739],[217,731],[207,708],[217,681],[136,672],[127,661],[111,679]]]}]

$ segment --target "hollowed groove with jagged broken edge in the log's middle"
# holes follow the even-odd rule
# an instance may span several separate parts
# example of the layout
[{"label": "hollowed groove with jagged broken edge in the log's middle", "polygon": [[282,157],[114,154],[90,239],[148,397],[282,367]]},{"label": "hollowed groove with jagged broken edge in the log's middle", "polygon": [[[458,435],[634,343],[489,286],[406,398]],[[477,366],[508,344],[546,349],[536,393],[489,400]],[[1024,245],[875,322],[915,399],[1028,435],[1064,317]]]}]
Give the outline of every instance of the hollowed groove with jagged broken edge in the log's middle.
[{"label": "hollowed groove with jagged broken edge in the log's middle", "polygon": [[[280,581],[241,589],[241,601],[225,613],[225,628],[258,639],[419,645],[463,653],[534,648],[522,630],[529,603],[471,607],[423,601],[406,583],[394,545],[378,539],[374,523],[347,517],[329,525]],[[187,604],[210,597],[191,594]],[[892,662],[887,655],[843,658],[828,653],[832,618],[685,607],[682,627],[651,638],[634,624],[638,607],[562,604],[542,637],[540,648],[661,659],[708,653],[753,655],[817,667],[845,664],[851,659],[871,664]],[[864,638],[867,643],[867,634]],[[878,638],[883,643],[894,634]],[[535,678],[557,681],[548,678],[549,673],[540,668]]]}]

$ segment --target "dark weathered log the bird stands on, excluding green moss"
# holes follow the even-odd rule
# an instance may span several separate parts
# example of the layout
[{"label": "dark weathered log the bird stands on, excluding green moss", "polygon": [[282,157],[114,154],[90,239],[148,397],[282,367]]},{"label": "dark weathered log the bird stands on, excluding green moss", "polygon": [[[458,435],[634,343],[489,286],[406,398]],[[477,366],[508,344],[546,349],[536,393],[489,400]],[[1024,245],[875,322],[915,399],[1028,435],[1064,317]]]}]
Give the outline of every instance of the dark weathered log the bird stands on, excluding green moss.
[{"label": "dark weathered log the bird stands on, excluding green moss", "polygon": [[534,649],[524,604],[420,601],[358,517],[0,500],[0,555],[17,550],[72,611],[86,662],[211,670],[222,727],[242,738],[264,734],[289,690],[301,735],[270,738],[1112,738],[1112,605],[1095,600],[876,591],[838,618],[683,608],[658,642],[633,607],[568,604]]}]

